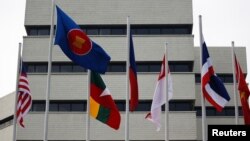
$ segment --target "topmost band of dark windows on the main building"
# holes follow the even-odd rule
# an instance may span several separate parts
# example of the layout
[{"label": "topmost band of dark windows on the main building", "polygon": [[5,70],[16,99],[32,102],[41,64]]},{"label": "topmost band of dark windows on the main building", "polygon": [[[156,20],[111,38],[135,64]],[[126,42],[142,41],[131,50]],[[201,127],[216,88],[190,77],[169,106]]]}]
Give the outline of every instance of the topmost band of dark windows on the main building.
[{"label": "topmost band of dark windows on the main building", "polygon": [[[88,35],[126,35],[126,25],[80,25]],[[28,36],[49,35],[50,26],[26,26]],[[56,31],[56,30],[54,30]],[[192,34],[192,25],[131,25],[134,35]]]}]

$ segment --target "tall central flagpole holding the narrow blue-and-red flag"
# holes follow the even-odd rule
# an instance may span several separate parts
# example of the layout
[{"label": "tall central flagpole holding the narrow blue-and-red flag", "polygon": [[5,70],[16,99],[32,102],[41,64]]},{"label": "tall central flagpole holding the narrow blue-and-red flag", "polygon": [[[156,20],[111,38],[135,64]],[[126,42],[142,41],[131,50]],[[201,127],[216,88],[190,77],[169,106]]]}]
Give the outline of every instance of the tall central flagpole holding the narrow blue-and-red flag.
[{"label": "tall central flagpole holding the narrow blue-and-red flag", "polygon": [[127,17],[127,62],[126,62],[126,116],[125,116],[125,141],[129,141],[129,52],[130,52],[130,23]]}]

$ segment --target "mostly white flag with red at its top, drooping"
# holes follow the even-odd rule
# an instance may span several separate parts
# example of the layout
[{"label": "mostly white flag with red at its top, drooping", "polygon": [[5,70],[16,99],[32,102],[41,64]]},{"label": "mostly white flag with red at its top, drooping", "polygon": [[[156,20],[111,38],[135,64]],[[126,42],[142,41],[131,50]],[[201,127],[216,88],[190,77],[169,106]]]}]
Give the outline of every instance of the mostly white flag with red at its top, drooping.
[{"label": "mostly white flag with red at its top, drooping", "polygon": [[[161,128],[161,106],[166,103],[166,75],[165,75],[165,56],[163,57],[161,72],[158,77],[156,84],[154,97],[151,105],[150,113],[146,115],[146,119],[153,122],[157,131],[160,131]],[[173,82],[168,70],[168,100],[171,100],[173,97]]]}]

